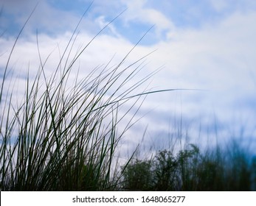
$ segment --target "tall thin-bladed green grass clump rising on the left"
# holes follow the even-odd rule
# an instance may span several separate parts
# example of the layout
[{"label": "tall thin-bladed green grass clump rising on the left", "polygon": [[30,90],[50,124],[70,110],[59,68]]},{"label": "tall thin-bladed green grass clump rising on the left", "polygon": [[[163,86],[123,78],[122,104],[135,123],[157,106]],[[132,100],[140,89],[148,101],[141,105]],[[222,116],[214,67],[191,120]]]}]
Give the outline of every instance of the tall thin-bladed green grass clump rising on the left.
[{"label": "tall thin-bladed green grass clump rising on the left", "polygon": [[[50,77],[46,75],[50,54],[43,60],[37,40],[40,66],[34,79],[27,72],[24,98],[18,100],[11,87],[15,79],[7,85],[7,78],[12,78],[7,74],[21,32],[13,43],[1,77],[1,191],[105,191],[117,188],[126,166],[112,173],[117,161],[116,150],[125,131],[134,124],[134,116],[122,131],[118,130],[118,125],[131,109],[134,108],[136,114],[143,96],[159,92],[141,90],[134,93],[157,71],[127,87],[142,69],[146,57],[125,66],[135,45],[118,65],[111,67],[108,63],[105,67],[94,68],[83,79],[77,73],[74,81],[71,74],[75,63],[108,26],[72,57],[79,24]],[[128,105],[128,110],[120,116],[123,104]]]}]

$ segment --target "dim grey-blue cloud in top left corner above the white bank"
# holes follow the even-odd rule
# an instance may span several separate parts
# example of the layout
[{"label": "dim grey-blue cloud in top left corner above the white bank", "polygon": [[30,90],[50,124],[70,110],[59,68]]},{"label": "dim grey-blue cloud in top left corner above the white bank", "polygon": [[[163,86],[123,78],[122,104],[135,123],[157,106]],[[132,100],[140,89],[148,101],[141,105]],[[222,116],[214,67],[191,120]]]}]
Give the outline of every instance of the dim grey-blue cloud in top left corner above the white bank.
[{"label": "dim grey-blue cloud in top left corner above the white bank", "polygon": [[[64,10],[63,7],[57,7],[50,4],[50,1],[36,1],[26,0],[22,1],[4,1],[3,15],[0,17],[0,29],[6,31],[6,35],[16,36],[24,25],[27,18],[35,9],[30,21],[28,22],[24,35],[30,35],[36,31],[44,32],[48,35],[59,35],[65,32],[74,31],[75,26],[80,21],[83,13],[88,9],[90,4],[83,3],[83,7],[77,4],[79,12],[74,10]],[[68,4],[67,2],[63,2]],[[59,3],[58,3],[59,4]],[[69,2],[70,4],[70,2]],[[35,7],[37,5],[37,7]],[[64,5],[63,5],[64,6]],[[95,19],[95,18],[94,18]],[[100,26],[97,21],[89,17],[89,12],[83,18],[80,24],[80,29],[87,32],[95,33]]]}]

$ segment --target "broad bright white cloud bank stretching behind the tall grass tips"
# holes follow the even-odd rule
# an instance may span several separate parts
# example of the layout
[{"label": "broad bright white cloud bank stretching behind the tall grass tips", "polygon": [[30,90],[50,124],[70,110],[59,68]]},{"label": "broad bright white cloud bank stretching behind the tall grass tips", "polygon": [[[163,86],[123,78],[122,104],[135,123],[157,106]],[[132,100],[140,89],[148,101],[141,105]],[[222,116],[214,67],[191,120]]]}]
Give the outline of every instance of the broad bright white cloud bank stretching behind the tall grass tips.
[{"label": "broad bright white cloud bank stretching behind the tall grass tips", "polygon": [[[137,35],[139,33],[137,27],[156,24],[153,35],[161,36],[165,33],[166,38],[158,38],[159,40],[155,40],[154,43],[137,46],[125,62],[125,65],[129,65],[139,57],[158,49],[147,57],[144,69],[134,81],[165,65],[165,68],[153,77],[149,88],[205,89],[205,91],[179,90],[147,96],[138,113],[139,116],[144,116],[146,113],[147,115],[138,122],[134,130],[129,131],[129,135],[134,134],[136,137],[141,135],[147,125],[148,133],[167,135],[170,125],[174,127],[172,118],[181,115],[187,124],[196,119],[201,121],[205,128],[207,124],[208,126],[214,124],[214,116],[225,126],[233,124],[234,116],[240,116],[241,121],[251,120],[247,127],[255,127],[253,122],[256,114],[256,80],[253,78],[256,77],[256,29],[252,26],[256,20],[255,12],[232,12],[214,23],[205,21],[200,27],[191,27],[173,24],[173,18],[160,9],[151,7],[148,1],[121,1],[113,7],[113,10],[110,8],[117,1],[108,2],[109,4],[105,1],[95,1],[97,9],[95,11],[92,8],[80,25],[80,34],[73,47],[73,55],[77,49],[81,50],[81,46],[86,46],[86,43],[94,37],[93,34],[117,15],[117,10],[120,11],[120,8],[124,7],[128,7],[128,10],[98,36],[81,55],[75,65],[75,68],[80,68],[80,77],[86,77],[86,74],[98,65],[106,65],[112,57],[114,60],[111,66],[117,65],[125,57],[134,46],[122,32],[125,26]],[[105,10],[109,8],[111,17],[108,13],[103,13],[104,7]],[[215,4],[215,10],[226,10],[227,7],[227,5]],[[43,15],[46,12],[49,15]],[[30,10],[27,10],[28,13]],[[77,24],[79,15],[44,4],[40,10],[36,10],[34,16],[35,18],[31,19],[32,24],[25,29],[30,35],[18,40],[10,67],[18,70],[19,74],[26,74],[30,64],[30,74],[35,75],[38,68],[38,51],[35,32],[31,31],[35,30],[36,21],[39,21],[42,31],[56,29],[53,31],[55,35],[50,35],[51,32],[38,34],[42,59],[46,60],[48,54],[52,52],[46,63],[47,74],[50,75],[58,65],[60,54],[72,35],[72,29]],[[4,68],[14,39],[2,37],[0,41],[0,66]],[[18,91],[23,88],[23,83],[20,82]],[[125,88],[129,86],[131,85],[125,85]]]}]

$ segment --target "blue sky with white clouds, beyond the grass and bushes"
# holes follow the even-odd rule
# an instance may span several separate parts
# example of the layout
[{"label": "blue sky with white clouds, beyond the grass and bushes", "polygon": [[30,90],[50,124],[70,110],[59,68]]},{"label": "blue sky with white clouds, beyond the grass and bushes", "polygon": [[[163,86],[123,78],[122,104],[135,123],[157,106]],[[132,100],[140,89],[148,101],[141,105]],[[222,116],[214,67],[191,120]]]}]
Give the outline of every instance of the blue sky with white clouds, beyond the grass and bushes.
[{"label": "blue sky with white clouds, beyond the grass and bushes", "polygon": [[28,64],[30,75],[36,74],[36,35],[42,57],[52,52],[47,66],[51,74],[58,58],[56,48],[65,48],[87,9],[77,29],[77,48],[86,45],[120,15],[80,57],[80,65],[86,65],[80,76],[86,76],[90,68],[108,63],[112,57],[118,63],[139,42],[128,63],[153,53],[145,58],[143,70],[136,78],[161,68],[145,87],[188,89],[148,95],[137,113],[142,118],[127,132],[125,143],[136,144],[146,129],[146,143],[166,146],[171,136],[179,135],[179,127],[192,143],[212,143],[216,136],[219,142],[226,137],[255,142],[256,1],[91,2],[0,0],[0,78],[11,46],[34,8],[10,60],[10,68],[15,68],[14,73],[21,79]]}]

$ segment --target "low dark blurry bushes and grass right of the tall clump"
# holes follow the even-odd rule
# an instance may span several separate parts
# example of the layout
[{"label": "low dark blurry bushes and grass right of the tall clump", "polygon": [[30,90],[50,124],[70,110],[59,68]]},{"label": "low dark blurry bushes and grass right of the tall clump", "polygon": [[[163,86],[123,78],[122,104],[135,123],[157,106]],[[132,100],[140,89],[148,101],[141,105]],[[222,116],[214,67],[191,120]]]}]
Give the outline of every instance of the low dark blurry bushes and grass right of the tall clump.
[{"label": "low dark blurry bushes and grass right of the tall clump", "polygon": [[122,189],[255,191],[255,157],[240,144],[232,143],[229,147],[216,146],[205,152],[190,144],[177,153],[162,150],[151,160],[133,160],[125,167]]}]

